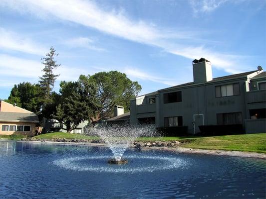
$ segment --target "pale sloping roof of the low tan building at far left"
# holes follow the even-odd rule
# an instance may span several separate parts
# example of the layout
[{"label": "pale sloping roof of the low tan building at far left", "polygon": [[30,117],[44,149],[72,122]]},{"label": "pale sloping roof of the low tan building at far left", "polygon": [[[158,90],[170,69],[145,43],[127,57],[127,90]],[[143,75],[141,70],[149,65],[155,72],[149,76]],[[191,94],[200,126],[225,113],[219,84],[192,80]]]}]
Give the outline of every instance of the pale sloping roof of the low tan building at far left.
[{"label": "pale sloping roof of the low tan building at far left", "polygon": [[38,116],[34,113],[20,112],[0,112],[0,121],[16,121],[16,122],[39,122]]}]

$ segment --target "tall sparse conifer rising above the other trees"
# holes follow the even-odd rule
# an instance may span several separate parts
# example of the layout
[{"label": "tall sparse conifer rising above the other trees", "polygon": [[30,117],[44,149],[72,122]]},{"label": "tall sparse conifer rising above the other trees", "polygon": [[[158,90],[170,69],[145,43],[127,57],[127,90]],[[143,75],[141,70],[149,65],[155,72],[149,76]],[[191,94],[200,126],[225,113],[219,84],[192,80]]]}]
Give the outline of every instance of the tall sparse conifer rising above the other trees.
[{"label": "tall sparse conifer rising above the other trees", "polygon": [[53,70],[58,68],[60,64],[56,64],[54,57],[58,56],[58,53],[55,53],[53,47],[50,48],[50,52],[46,54],[46,57],[41,58],[44,68],[42,71],[44,74],[42,77],[39,77],[40,87],[43,91],[44,102],[48,102],[51,96],[51,92],[54,86],[54,82],[59,75],[53,74]]}]

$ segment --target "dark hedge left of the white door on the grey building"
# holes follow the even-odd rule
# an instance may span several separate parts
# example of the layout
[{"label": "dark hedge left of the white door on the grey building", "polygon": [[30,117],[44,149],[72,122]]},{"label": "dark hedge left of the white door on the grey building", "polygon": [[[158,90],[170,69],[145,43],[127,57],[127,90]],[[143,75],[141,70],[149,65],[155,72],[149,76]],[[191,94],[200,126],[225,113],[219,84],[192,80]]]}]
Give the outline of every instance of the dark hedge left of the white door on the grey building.
[{"label": "dark hedge left of the white door on the grey building", "polygon": [[187,126],[157,127],[161,136],[189,136]]}]

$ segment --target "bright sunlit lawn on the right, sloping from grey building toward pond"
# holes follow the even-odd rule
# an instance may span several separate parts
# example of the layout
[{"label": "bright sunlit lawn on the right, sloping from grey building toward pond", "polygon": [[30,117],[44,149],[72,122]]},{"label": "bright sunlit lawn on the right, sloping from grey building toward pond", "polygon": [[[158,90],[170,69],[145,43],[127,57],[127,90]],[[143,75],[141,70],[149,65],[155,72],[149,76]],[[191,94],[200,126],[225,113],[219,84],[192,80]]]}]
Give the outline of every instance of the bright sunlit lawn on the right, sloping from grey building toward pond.
[{"label": "bright sunlit lawn on the right, sloping from grey building toward pond", "polygon": [[191,139],[183,147],[266,153],[266,133]]}]

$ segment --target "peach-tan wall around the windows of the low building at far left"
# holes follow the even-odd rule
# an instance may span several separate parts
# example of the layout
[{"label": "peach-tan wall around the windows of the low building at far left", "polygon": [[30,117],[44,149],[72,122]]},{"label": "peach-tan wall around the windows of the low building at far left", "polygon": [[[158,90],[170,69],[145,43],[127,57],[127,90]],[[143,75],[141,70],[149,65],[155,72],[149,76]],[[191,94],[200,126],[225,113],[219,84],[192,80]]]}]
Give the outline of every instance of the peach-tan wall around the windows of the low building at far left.
[{"label": "peach-tan wall around the windows of the low building at far left", "polygon": [[[2,131],[2,125],[26,125],[30,126],[30,131]],[[35,123],[24,123],[24,122],[0,122],[0,135],[35,135]],[[9,129],[8,129],[9,130]]]}]

